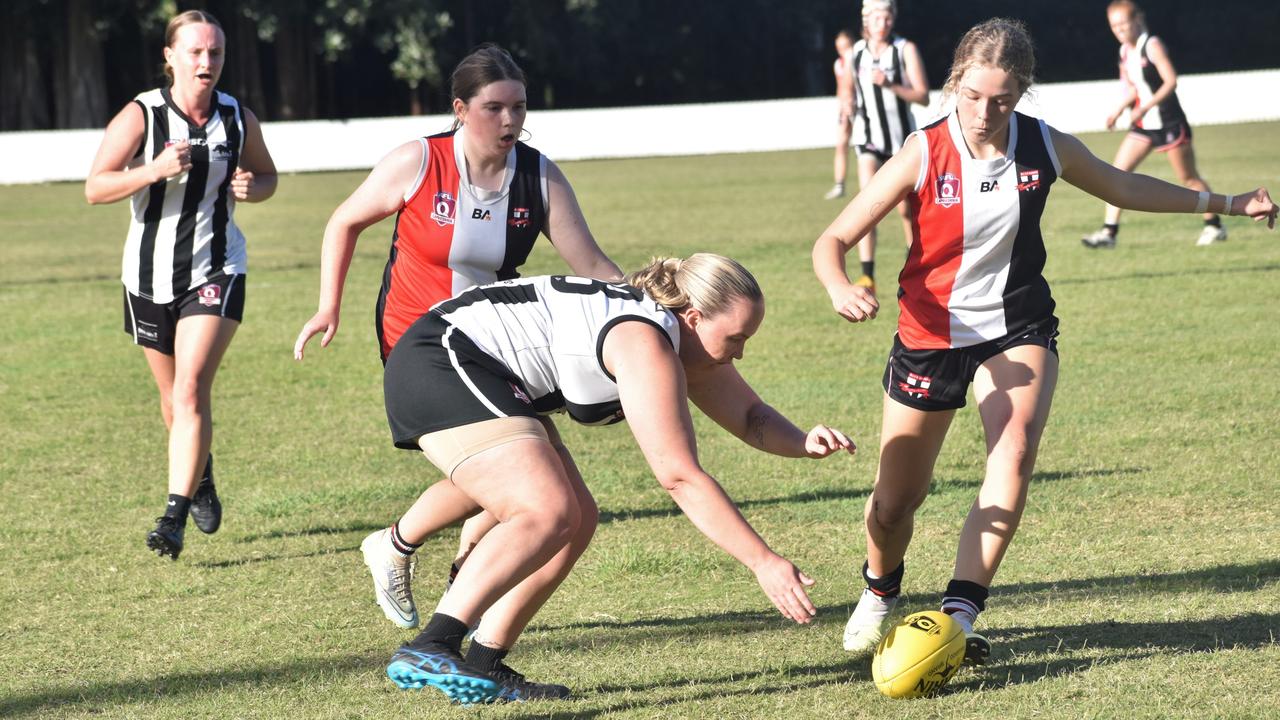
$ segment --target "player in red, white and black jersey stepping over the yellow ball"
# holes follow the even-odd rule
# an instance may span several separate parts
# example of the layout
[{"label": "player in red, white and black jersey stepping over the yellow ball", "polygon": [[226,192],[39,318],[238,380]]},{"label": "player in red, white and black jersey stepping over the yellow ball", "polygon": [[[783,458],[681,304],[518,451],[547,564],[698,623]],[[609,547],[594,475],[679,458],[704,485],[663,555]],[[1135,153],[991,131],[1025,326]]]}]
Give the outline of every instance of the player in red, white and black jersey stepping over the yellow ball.
[{"label": "player in red, white and black jersey stepping over the yellow ball", "polygon": [[1041,214],[1059,179],[1120,208],[1249,215],[1275,225],[1265,188],[1211,195],[1121,172],[1073,136],[1015,113],[1036,68],[1018,20],[992,19],[960,40],[945,95],[955,109],[913,135],[818,238],[814,270],[850,322],[876,297],[849,281],[845,254],[908,200],[920,236],[901,273],[897,334],[884,369],[881,461],[865,507],[861,593],[845,650],[876,647],[899,600],[915,510],[951,419],[973,386],[987,439],[986,478],[956,550],[942,610],[968,634],[966,660],[989,643],[973,632],[1018,529],[1057,384],[1057,318],[1044,281]]}]

